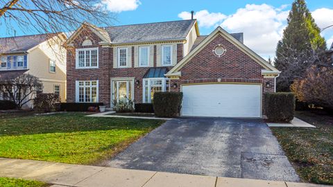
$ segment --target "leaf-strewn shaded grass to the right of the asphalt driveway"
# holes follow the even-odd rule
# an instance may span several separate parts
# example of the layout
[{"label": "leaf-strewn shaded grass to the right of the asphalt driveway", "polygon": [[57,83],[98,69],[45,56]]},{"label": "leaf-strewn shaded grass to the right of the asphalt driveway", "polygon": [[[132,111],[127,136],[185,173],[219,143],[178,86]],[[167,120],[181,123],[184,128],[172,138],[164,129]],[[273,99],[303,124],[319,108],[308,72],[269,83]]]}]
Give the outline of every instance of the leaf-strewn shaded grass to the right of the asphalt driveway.
[{"label": "leaf-strewn shaded grass to the right of the asphalt driveway", "polygon": [[333,116],[297,112],[296,117],[317,128],[273,127],[273,133],[303,181],[333,184]]}]

